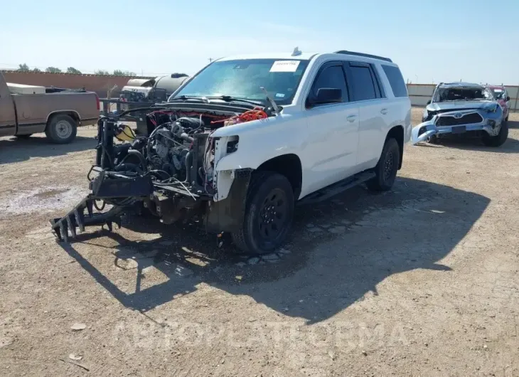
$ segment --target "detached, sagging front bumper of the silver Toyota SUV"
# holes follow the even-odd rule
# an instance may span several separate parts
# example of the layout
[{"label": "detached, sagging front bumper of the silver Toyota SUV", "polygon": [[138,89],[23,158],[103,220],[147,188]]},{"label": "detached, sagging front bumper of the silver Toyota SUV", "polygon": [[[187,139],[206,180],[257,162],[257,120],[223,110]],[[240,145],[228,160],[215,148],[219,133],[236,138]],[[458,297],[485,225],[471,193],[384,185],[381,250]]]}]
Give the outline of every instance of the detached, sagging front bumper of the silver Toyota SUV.
[{"label": "detached, sagging front bumper of the silver Toyota SUV", "polygon": [[[454,113],[454,112],[453,112]],[[479,112],[481,117],[483,117],[483,122],[479,123],[469,123],[469,124],[456,124],[452,126],[437,126],[437,120],[440,116],[449,116],[452,115],[451,112],[442,113],[442,115],[435,115],[432,120],[428,120],[427,122],[422,122],[417,126],[412,128],[411,131],[411,140],[412,144],[417,144],[419,142],[424,142],[429,139],[429,137],[434,137],[442,134],[464,134],[466,132],[471,131],[483,131],[486,132],[490,136],[496,136],[499,134],[499,130],[501,129],[501,120],[496,120],[494,117],[489,117],[488,113]],[[490,113],[492,114],[492,113]],[[495,125],[492,126],[488,123],[488,120],[493,120]]]}]

